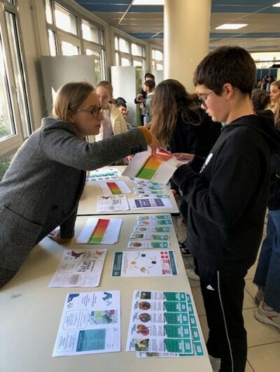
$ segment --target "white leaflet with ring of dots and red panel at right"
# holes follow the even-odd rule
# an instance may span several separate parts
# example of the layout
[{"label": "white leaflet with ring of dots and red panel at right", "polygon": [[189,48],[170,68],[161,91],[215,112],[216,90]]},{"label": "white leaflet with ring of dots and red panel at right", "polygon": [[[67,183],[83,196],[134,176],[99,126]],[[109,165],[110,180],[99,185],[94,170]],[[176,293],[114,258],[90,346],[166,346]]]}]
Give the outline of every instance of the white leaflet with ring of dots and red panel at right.
[{"label": "white leaflet with ring of dots and red panel at right", "polygon": [[112,276],[176,275],[178,275],[178,269],[172,250],[115,252],[114,254]]}]

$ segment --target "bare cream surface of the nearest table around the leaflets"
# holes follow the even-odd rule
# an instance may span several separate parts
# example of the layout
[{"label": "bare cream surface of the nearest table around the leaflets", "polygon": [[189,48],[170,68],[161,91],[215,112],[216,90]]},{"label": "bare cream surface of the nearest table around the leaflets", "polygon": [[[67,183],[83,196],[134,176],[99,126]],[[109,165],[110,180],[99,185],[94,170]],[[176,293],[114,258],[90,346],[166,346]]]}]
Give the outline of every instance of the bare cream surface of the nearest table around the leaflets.
[{"label": "bare cream surface of the nearest table around the leaflets", "polygon": [[[27,257],[18,274],[0,292],[0,371],[17,372],[195,372],[212,371],[204,344],[204,357],[138,359],[134,352],[125,352],[127,329],[130,322],[132,294],[135,289],[184,291],[191,294],[183,259],[174,227],[170,248],[174,250],[179,276],[148,278],[113,278],[113,252],[127,250],[127,241],[137,215],[111,215],[122,218],[118,243],[114,245],[78,245],[76,238],[88,217],[77,217],[75,238],[66,246],[44,238]],[[121,299],[121,352],[75,357],[52,358],[52,350],[59,329],[66,294],[72,288],[48,288],[59,264],[64,248],[107,248],[100,286],[75,288],[75,292],[120,290]],[[193,301],[194,308],[195,303]],[[195,309],[195,314],[196,309]]]}]

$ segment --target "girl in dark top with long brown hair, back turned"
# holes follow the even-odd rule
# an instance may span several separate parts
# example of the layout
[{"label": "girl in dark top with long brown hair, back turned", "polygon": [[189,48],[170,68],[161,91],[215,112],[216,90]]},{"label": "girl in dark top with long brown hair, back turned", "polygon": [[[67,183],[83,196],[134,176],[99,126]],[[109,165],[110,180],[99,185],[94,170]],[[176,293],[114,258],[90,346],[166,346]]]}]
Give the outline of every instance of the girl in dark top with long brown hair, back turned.
[{"label": "girl in dark top with long brown hair, back turned", "polygon": [[[213,122],[200,108],[197,94],[188,93],[178,80],[167,79],[155,88],[151,131],[170,152],[188,152],[206,159],[221,134],[221,123]],[[179,194],[179,189],[172,180],[170,187],[175,195]],[[179,208],[186,221],[186,199],[181,200]],[[187,240],[181,243],[181,248],[182,252],[187,252]],[[193,269],[188,269],[187,273],[189,278],[199,280],[195,257],[194,264],[196,276]]]}]

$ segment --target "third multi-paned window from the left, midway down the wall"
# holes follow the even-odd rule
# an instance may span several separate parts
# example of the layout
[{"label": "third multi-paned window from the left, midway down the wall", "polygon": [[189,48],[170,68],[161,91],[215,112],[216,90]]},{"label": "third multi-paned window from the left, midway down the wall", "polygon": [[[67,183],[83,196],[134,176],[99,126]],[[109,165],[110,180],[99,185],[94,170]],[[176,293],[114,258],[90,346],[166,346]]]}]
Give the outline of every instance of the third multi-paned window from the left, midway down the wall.
[{"label": "third multi-paned window from the left, midway down the wall", "polygon": [[131,43],[125,38],[115,36],[116,66],[141,66],[146,70],[146,50],[142,45]]}]

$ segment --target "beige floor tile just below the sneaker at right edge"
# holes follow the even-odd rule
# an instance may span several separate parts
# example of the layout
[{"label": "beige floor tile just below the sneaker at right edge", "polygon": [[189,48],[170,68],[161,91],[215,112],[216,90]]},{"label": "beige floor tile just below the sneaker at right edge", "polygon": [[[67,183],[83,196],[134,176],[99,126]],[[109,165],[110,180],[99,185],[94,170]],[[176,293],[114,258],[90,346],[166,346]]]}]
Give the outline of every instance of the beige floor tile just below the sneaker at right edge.
[{"label": "beige floor tile just below the sneaker at right edge", "polygon": [[263,345],[265,343],[280,342],[280,332],[275,327],[256,320],[254,317],[254,312],[255,308],[243,310],[245,328],[247,331],[248,348],[251,346]]}]

